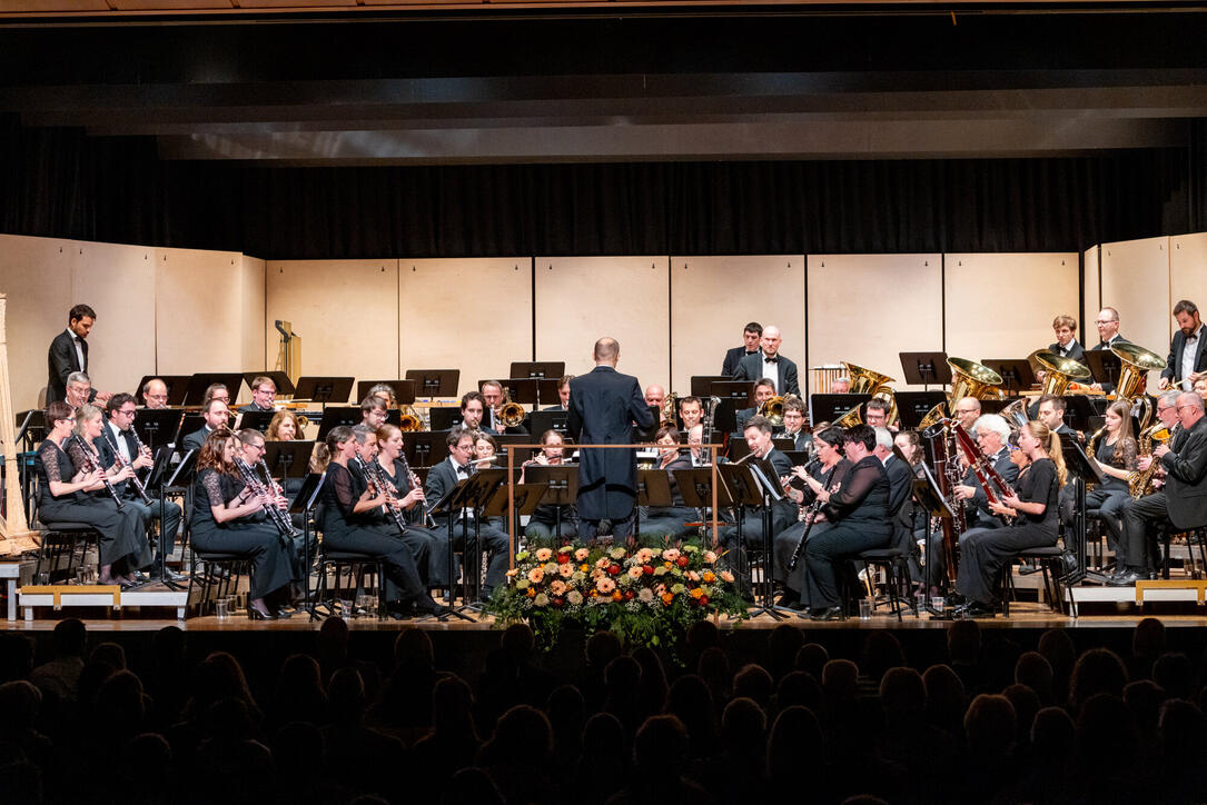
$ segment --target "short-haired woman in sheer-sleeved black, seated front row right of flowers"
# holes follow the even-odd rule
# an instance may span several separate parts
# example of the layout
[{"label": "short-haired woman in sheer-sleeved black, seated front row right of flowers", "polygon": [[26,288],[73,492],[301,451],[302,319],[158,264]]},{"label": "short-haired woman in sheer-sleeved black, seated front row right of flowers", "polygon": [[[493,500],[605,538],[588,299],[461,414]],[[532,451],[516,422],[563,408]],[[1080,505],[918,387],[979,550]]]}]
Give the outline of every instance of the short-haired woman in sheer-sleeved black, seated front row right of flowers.
[{"label": "short-haired woman in sheer-sleeved black, seated front row right of flowers", "polygon": [[873,454],[875,447],[876,432],[867,425],[856,425],[846,432],[842,451],[851,468],[838,491],[829,491],[833,484],[827,489],[821,480],[805,476],[817,500],[833,509],[833,515],[816,524],[805,542],[801,601],[809,605],[809,617],[814,620],[842,618],[835,562],[863,550],[886,548],[892,539],[888,474]]}]

